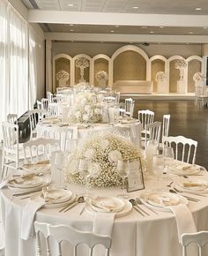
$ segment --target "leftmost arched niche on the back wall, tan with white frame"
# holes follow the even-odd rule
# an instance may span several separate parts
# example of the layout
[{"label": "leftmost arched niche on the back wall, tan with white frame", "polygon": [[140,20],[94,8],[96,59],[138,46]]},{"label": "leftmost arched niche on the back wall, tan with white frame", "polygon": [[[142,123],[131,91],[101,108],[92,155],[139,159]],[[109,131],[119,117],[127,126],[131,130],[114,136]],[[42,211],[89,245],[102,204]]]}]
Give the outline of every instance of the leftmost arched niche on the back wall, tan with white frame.
[{"label": "leftmost arched niche on the back wall, tan with white frame", "polygon": [[66,81],[66,86],[70,86],[71,85],[71,56],[63,53],[54,56],[54,59],[53,59],[53,93],[56,93],[56,87],[59,87],[59,81],[56,79],[56,74],[62,70],[70,74],[70,78]]}]

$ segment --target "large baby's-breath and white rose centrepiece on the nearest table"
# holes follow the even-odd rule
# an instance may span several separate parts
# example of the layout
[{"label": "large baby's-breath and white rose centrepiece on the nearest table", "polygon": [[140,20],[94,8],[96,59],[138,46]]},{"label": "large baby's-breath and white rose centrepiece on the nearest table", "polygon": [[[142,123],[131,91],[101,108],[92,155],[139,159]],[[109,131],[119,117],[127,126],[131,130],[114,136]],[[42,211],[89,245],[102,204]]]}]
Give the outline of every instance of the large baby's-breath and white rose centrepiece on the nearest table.
[{"label": "large baby's-breath and white rose centrepiece on the nearest table", "polygon": [[140,158],[142,165],[145,165],[142,152],[130,140],[112,132],[96,132],[69,155],[66,162],[67,182],[85,184],[85,178],[78,172],[79,162],[85,157],[91,160],[93,172],[98,173],[96,177],[90,177],[90,186],[122,184],[122,178],[116,172],[119,160]]}]

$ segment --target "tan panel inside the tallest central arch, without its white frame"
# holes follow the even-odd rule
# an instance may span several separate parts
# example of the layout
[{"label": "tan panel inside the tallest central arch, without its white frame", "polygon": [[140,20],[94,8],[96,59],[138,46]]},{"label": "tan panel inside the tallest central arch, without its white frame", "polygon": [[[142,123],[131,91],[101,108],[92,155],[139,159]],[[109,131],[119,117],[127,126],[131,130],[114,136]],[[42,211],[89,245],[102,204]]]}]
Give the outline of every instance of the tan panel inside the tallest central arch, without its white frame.
[{"label": "tan panel inside the tallest central arch, without its white frame", "polygon": [[114,78],[116,80],[145,80],[146,62],[145,58],[137,52],[126,50],[115,57]]}]

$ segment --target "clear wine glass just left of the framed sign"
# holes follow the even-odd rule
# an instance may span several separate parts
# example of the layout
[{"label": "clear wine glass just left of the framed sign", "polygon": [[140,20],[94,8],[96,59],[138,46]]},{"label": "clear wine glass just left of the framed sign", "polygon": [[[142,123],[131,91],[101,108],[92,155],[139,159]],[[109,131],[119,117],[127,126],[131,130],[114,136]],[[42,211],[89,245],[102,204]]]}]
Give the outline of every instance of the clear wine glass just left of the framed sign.
[{"label": "clear wine glass just left of the framed sign", "polygon": [[[130,162],[128,160],[119,160],[117,163],[117,173],[122,177],[122,189],[125,189],[126,178],[130,173]],[[118,197],[127,199],[129,196],[126,193],[122,193]]]}]

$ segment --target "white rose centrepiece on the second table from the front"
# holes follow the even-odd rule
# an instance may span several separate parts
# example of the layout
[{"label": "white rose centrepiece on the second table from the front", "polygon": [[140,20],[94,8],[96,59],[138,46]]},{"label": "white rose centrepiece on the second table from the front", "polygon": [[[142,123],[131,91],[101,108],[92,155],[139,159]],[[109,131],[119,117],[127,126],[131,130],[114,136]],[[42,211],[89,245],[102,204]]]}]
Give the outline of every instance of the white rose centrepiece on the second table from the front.
[{"label": "white rose centrepiece on the second table from the front", "polygon": [[97,95],[91,91],[80,91],[69,112],[71,123],[94,124],[101,121],[101,105]]}]

